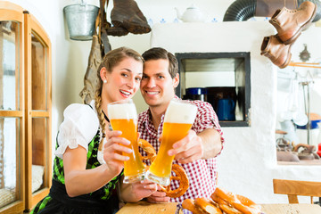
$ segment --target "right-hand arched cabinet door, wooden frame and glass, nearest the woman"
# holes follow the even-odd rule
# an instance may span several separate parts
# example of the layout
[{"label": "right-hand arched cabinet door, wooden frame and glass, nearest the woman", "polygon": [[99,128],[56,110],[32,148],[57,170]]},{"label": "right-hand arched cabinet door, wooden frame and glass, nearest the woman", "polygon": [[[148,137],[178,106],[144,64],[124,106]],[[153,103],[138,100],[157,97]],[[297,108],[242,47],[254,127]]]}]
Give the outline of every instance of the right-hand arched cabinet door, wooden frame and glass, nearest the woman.
[{"label": "right-hand arched cabinet door, wooden frame and glass, nearest the woman", "polygon": [[25,13],[25,86],[27,97],[28,177],[27,204],[30,210],[46,194],[52,179],[51,156],[51,44],[34,16]]}]

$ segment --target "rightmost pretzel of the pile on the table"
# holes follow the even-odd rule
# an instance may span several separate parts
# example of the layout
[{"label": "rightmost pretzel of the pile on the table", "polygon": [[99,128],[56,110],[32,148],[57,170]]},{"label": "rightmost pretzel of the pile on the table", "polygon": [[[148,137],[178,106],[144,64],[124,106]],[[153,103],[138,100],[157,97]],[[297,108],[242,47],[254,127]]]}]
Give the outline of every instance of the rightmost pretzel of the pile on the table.
[{"label": "rightmost pretzel of the pile on the table", "polygon": [[260,214],[260,206],[243,195],[231,193],[216,188],[211,194],[211,199],[218,203],[221,210],[226,214]]}]

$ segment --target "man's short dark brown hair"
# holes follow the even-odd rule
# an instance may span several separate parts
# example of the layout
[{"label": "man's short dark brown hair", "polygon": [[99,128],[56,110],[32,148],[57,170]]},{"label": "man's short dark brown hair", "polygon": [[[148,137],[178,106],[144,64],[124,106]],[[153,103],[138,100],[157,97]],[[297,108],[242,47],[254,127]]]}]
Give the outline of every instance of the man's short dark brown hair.
[{"label": "man's short dark brown hair", "polygon": [[169,53],[167,50],[161,47],[152,47],[151,49],[145,51],[143,53],[144,61],[147,62],[149,60],[168,60],[169,61],[169,74],[171,78],[175,78],[178,73],[178,62],[177,58]]}]

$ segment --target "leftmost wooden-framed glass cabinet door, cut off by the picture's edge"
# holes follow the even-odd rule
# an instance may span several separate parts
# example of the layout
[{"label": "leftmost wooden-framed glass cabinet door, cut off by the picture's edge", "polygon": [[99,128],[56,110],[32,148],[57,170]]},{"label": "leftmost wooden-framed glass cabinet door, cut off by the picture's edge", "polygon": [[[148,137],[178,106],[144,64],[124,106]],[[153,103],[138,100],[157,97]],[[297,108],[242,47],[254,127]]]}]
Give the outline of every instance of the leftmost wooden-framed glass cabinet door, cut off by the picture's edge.
[{"label": "leftmost wooden-framed glass cabinet door, cut off by the picture's edge", "polygon": [[24,210],[25,197],[23,13],[7,4],[0,2],[0,213],[16,213]]}]

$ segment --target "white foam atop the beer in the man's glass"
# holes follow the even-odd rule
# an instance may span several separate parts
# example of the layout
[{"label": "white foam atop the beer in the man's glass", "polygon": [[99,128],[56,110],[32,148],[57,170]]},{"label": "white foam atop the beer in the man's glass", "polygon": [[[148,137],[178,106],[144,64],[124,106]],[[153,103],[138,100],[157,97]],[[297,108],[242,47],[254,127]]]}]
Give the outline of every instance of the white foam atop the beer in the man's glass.
[{"label": "white foam atop the beer in the man's glass", "polygon": [[171,101],[164,122],[193,124],[197,107],[191,103]]}]

